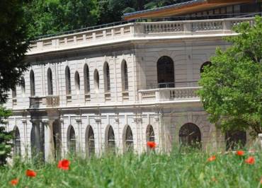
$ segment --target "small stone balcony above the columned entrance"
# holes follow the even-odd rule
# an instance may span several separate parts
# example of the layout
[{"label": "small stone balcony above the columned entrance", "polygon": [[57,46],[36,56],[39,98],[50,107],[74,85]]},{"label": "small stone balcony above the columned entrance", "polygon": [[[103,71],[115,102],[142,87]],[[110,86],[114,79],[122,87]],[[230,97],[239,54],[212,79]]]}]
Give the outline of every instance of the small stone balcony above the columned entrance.
[{"label": "small stone balcony above the columned entrance", "polygon": [[30,97],[30,108],[58,107],[59,96],[49,95],[44,97]]}]

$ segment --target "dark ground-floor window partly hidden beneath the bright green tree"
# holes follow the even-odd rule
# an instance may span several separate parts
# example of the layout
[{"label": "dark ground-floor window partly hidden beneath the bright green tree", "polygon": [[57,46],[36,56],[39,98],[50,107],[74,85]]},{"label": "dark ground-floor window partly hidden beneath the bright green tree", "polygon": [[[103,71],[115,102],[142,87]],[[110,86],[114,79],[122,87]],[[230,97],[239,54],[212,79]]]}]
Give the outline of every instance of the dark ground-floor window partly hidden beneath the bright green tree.
[{"label": "dark ground-floor window partly hidden beneath the bright green tree", "polygon": [[237,148],[243,148],[246,145],[246,132],[227,131],[225,140],[226,140],[227,150],[235,150]]}]

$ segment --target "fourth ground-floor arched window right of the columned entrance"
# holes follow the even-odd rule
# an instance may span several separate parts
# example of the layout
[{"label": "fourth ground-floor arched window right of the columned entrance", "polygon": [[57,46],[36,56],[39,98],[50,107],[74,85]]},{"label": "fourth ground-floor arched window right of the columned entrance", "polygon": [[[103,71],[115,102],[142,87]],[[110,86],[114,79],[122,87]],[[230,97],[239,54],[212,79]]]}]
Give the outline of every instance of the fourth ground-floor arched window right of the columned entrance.
[{"label": "fourth ground-floor arched window right of the columned entrance", "polygon": [[132,134],[132,129],[129,125],[125,125],[123,129],[123,151],[133,151],[134,150],[134,136]]}]

